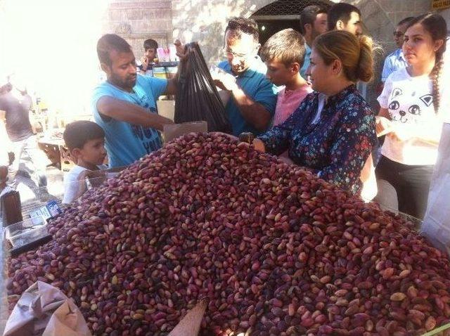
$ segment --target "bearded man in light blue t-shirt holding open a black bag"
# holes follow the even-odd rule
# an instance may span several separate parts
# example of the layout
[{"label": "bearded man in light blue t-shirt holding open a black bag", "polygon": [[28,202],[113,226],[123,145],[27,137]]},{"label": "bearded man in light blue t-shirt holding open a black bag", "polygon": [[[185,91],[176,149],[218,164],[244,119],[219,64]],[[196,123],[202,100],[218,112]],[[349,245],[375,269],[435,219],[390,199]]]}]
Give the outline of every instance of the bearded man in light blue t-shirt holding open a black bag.
[{"label": "bearded man in light blue t-shirt holding open a black bag", "polygon": [[98,60],[107,80],[94,89],[94,119],[105,131],[110,168],[122,167],[161,148],[158,131],[172,120],[158,115],[156,101],[174,94],[174,79],[136,75],[131,46],[116,34],[98,40]]}]

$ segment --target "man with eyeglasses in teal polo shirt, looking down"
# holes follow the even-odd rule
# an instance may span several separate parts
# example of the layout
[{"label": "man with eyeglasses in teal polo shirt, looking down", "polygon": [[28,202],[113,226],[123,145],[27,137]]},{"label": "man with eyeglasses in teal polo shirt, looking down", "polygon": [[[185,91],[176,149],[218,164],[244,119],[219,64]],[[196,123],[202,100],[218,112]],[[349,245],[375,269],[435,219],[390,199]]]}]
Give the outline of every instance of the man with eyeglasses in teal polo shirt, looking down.
[{"label": "man with eyeglasses in teal polo shirt, looking down", "polygon": [[277,89],[266,79],[266,65],[257,56],[260,46],[254,20],[229,21],[225,30],[226,60],[218,65],[226,73],[216,73],[213,79],[233,97],[226,105],[226,113],[235,136],[262,133],[274,116]]}]

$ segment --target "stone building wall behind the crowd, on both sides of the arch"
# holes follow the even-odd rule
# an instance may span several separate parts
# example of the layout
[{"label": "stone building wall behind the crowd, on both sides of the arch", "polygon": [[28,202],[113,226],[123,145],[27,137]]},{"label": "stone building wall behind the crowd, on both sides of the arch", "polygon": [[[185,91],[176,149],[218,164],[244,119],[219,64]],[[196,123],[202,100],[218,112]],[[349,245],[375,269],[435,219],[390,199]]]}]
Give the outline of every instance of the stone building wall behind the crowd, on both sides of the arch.
[{"label": "stone building wall behind the crowd, on both sides of the arch", "polygon": [[[377,54],[375,78],[369,100],[376,107],[375,86],[387,53],[395,49],[394,27],[406,16],[430,11],[430,0],[332,0],[361,9],[366,32],[382,49]],[[224,30],[233,16],[250,17],[273,0],[114,0],[105,17],[105,32],[117,32],[141,55],[142,42],[149,37],[160,44],[198,41],[207,63],[222,58]],[[445,11],[444,11],[445,12]],[[447,15],[450,17],[450,14]]]}]

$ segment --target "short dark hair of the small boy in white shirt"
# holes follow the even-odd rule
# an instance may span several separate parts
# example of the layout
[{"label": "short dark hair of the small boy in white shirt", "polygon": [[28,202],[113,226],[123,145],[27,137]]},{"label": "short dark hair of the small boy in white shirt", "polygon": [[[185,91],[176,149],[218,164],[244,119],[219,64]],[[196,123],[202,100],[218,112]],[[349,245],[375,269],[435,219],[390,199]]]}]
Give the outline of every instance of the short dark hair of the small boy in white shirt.
[{"label": "short dark hair of the small boy in white shirt", "polygon": [[105,138],[105,131],[95,122],[78,120],[65,127],[63,138],[65,146],[68,146],[69,150],[73,150],[83,148],[89,140]]}]

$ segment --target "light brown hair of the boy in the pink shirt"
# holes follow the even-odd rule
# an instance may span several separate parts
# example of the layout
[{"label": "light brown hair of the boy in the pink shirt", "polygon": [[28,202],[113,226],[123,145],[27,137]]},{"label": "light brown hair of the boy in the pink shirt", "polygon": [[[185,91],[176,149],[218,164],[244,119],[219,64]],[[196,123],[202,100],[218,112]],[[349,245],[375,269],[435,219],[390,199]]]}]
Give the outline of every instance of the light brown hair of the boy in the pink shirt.
[{"label": "light brown hair of the boy in the pink shirt", "polygon": [[302,67],[306,48],[302,34],[288,28],[272,35],[259,52],[264,61],[278,58],[286,67],[295,62]]}]

